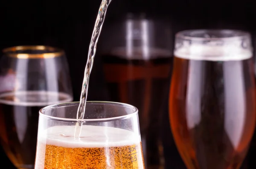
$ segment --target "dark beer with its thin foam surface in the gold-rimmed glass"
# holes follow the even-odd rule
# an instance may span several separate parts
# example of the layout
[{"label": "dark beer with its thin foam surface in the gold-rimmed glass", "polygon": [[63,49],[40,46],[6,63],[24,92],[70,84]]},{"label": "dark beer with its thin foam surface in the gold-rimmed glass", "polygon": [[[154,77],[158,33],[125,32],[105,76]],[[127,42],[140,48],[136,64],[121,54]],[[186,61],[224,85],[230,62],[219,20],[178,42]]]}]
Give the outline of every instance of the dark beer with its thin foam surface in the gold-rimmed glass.
[{"label": "dark beer with its thin foam surface in the gold-rimmed glass", "polygon": [[0,95],[0,141],[17,168],[34,168],[39,110],[72,99],[65,93],[44,91]]}]

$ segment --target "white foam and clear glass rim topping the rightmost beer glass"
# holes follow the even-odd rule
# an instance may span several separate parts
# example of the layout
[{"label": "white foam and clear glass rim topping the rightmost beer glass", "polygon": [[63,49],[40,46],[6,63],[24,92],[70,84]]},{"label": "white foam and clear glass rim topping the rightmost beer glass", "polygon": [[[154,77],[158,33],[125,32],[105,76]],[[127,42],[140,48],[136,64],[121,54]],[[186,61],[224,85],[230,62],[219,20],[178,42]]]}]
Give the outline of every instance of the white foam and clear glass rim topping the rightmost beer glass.
[{"label": "white foam and clear glass rim topping the rightmost beer glass", "polygon": [[236,30],[187,30],[176,34],[175,56],[183,59],[232,61],[253,56],[250,34]]}]

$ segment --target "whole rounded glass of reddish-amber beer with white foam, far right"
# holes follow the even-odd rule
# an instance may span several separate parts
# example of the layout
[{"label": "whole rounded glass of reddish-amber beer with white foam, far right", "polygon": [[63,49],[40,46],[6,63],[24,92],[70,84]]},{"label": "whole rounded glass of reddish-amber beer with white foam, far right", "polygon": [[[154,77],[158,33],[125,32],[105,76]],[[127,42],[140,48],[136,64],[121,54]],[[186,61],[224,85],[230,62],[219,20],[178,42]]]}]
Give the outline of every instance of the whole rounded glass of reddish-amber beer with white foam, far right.
[{"label": "whole rounded glass of reddish-amber beer with white foam, far right", "polygon": [[172,133],[188,169],[239,169],[255,127],[250,35],[192,30],[176,35],[169,95]]}]

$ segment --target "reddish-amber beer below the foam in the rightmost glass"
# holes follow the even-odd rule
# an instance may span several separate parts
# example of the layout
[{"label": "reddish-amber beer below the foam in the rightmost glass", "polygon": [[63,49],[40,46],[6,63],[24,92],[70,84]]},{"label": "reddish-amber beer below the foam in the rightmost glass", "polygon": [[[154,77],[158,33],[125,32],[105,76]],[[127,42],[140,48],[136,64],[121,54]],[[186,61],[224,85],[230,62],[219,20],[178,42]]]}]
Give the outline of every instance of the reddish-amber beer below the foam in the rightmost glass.
[{"label": "reddish-amber beer below the foam in the rightmost glass", "polygon": [[252,60],[174,62],[170,122],[187,168],[239,169],[255,127]]}]

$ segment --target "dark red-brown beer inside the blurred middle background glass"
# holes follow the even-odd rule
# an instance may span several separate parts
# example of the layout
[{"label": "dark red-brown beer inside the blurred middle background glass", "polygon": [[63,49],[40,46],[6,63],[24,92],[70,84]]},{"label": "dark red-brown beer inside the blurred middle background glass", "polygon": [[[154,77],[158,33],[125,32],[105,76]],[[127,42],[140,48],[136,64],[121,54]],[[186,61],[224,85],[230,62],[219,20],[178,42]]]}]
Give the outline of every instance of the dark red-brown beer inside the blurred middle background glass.
[{"label": "dark red-brown beer inside the blurred middle background glass", "polygon": [[111,101],[138,108],[145,166],[160,169],[163,166],[160,107],[164,93],[168,92],[172,57],[165,53],[148,60],[125,59],[124,56],[115,53],[103,56],[109,96]]}]

